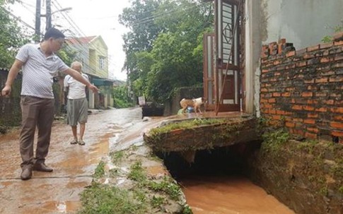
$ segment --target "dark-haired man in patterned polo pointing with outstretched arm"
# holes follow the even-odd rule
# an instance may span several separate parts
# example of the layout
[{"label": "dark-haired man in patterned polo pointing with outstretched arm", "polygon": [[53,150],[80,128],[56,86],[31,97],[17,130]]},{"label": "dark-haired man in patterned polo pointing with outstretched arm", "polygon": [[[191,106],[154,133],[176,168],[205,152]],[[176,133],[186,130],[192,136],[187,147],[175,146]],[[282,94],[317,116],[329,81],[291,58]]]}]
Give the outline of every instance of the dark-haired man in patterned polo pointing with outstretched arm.
[{"label": "dark-haired man in patterned polo pointing with outstretched arm", "polygon": [[[52,121],[54,120],[54,94],[52,93],[52,78],[57,71],[69,74],[77,81],[97,92],[98,88],[87,81],[78,71],[69,68],[57,57],[55,52],[64,44],[64,35],[55,28],[45,32],[40,44],[25,44],[19,49],[8,73],[5,87],[1,94],[8,96],[11,85],[18,72],[22,69],[23,83],[21,87],[22,129],[20,134],[21,179],[32,177],[32,171],[52,172],[45,165],[45,157],[49,151]],[[37,148],[33,154],[33,141],[37,127]]]}]

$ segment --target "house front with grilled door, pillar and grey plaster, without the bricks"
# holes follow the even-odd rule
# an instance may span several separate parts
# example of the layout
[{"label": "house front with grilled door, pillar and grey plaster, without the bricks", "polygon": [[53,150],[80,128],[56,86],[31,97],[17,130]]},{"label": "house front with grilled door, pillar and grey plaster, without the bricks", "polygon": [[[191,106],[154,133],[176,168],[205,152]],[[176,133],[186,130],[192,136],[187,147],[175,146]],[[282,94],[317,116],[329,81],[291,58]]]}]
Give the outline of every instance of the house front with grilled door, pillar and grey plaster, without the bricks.
[{"label": "house front with grilled door, pillar and grey plaster, without the bricks", "polygon": [[263,44],[285,38],[303,49],[343,25],[343,1],[204,1],[215,8],[215,30],[204,36],[204,97],[219,112],[260,115]]}]

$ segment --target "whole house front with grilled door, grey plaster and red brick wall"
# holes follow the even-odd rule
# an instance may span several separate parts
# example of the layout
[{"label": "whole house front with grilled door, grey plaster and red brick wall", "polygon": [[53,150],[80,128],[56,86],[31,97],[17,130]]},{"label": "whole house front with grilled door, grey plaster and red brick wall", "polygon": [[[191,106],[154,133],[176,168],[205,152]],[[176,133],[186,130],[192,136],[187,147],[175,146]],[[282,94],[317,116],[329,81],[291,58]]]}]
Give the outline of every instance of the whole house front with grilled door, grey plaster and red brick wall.
[{"label": "whole house front with grilled door, grey plaster and red brick wall", "polygon": [[[207,1],[207,0],[206,0]],[[214,0],[204,35],[207,109],[264,117],[343,143],[343,1]]]}]

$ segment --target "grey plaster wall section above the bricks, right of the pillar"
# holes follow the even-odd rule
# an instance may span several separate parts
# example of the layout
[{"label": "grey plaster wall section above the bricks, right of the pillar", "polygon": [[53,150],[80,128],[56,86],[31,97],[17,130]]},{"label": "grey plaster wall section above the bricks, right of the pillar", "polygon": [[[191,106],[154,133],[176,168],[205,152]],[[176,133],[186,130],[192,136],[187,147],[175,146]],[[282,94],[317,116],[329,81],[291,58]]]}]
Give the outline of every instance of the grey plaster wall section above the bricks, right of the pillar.
[{"label": "grey plaster wall section above the bricks, right of the pillar", "polygon": [[342,0],[262,0],[267,37],[262,42],[286,38],[296,49],[318,44],[331,35],[327,26],[337,26],[343,20]]}]

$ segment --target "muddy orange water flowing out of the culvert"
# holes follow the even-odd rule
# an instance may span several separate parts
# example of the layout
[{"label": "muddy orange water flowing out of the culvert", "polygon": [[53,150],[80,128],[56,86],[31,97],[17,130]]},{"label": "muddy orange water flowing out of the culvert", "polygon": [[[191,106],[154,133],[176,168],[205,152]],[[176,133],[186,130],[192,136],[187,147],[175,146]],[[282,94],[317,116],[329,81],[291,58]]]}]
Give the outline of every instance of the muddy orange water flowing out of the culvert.
[{"label": "muddy orange water flowing out of the culvert", "polygon": [[180,180],[194,214],[294,214],[244,177],[188,177]]}]

